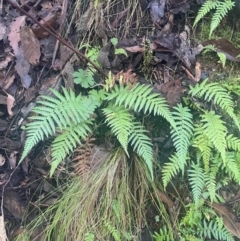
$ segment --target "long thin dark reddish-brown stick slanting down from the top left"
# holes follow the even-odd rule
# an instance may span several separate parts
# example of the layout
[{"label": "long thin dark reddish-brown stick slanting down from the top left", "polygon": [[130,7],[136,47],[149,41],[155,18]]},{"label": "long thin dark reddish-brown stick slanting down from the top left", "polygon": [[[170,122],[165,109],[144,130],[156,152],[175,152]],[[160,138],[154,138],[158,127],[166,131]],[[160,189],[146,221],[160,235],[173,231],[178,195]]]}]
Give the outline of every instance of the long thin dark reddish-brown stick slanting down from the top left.
[{"label": "long thin dark reddish-brown stick slanting down from the top left", "polygon": [[101,73],[103,76],[107,77],[107,75],[103,72],[101,68],[99,68],[95,63],[93,63],[87,56],[79,52],[77,49],[72,47],[65,39],[58,36],[57,34],[53,33],[51,30],[43,26],[39,21],[37,21],[34,17],[32,17],[28,12],[23,10],[21,7],[19,7],[17,4],[12,2],[11,0],[6,0],[8,3],[10,3],[13,7],[18,9],[21,13],[25,14],[27,17],[32,19],[36,24],[38,24],[40,27],[42,27],[44,30],[46,30],[49,34],[51,34],[54,38],[58,39],[63,45],[67,46],[69,49],[71,49],[74,53],[76,53],[78,56],[82,57],[86,62],[90,63],[99,73]]}]

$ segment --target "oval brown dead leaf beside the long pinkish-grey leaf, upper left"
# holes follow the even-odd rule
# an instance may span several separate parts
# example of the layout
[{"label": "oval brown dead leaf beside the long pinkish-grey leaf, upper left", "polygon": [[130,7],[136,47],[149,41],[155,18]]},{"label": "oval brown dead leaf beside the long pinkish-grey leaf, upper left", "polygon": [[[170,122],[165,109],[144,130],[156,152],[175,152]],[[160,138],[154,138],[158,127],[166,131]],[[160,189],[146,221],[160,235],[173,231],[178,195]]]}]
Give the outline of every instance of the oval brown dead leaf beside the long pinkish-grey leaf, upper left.
[{"label": "oval brown dead leaf beside the long pinkish-grey leaf, upper left", "polygon": [[23,54],[31,65],[38,65],[41,56],[40,44],[30,27],[24,26],[20,30]]}]

